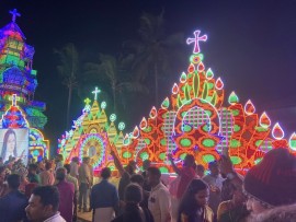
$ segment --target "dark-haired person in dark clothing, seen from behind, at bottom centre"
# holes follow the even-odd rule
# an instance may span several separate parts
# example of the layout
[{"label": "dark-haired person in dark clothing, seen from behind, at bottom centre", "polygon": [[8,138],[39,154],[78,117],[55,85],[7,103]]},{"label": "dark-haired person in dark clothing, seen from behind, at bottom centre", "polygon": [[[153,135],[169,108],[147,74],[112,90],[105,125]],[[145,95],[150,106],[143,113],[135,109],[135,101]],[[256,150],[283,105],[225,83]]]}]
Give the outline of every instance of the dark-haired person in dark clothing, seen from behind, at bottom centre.
[{"label": "dark-haired person in dark clothing, seen from behind, at bottom centre", "polygon": [[124,194],[125,208],[123,214],[112,222],[153,222],[153,217],[147,208],[139,206],[143,189],[137,184],[129,184]]}]

